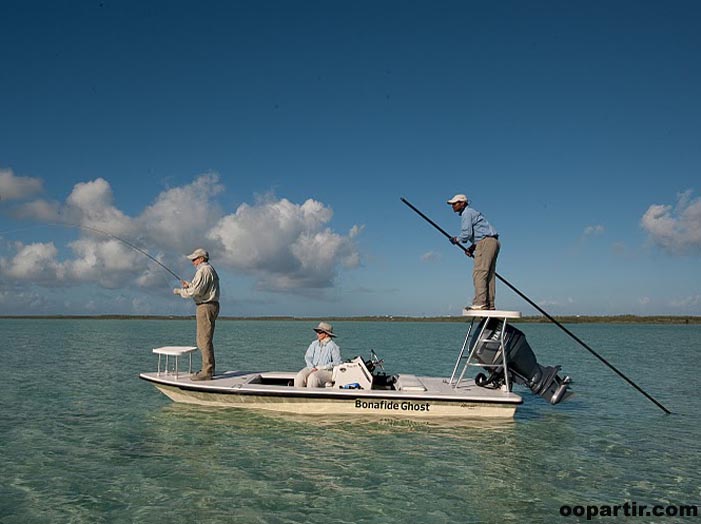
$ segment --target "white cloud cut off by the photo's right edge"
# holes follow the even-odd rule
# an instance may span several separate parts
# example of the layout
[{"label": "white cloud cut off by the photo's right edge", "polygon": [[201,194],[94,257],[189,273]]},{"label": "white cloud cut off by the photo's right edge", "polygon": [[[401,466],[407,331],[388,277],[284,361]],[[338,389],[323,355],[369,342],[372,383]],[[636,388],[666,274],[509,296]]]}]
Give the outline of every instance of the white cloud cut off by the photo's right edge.
[{"label": "white cloud cut off by the photo's right edge", "polygon": [[653,204],[640,225],[650,240],[673,254],[687,254],[701,249],[701,198],[692,191],[677,195],[676,205]]}]

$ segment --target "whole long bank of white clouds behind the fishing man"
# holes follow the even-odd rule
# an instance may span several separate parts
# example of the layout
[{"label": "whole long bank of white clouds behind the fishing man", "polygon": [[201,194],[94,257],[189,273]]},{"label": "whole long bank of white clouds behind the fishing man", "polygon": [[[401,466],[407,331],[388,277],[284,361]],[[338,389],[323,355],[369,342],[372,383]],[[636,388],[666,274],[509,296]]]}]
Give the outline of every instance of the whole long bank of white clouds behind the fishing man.
[{"label": "whole long bank of white clouds behind the fishing man", "polygon": [[[14,257],[0,259],[0,271],[34,283],[163,285],[162,268],[122,239],[166,265],[195,247],[206,247],[217,268],[252,275],[259,288],[272,291],[330,287],[341,269],[360,265],[355,239],[363,226],[355,225],[347,234],[333,231],[333,211],[322,202],[296,204],[268,195],[225,214],[216,202],[223,190],[218,175],[204,174],[164,190],[141,214],[130,217],[115,205],[105,179],[81,182],[64,203],[37,200],[17,213],[81,227],[81,238],[66,246],[70,253],[64,253],[65,260],[53,243],[18,245]],[[171,254],[170,260],[163,253]]]}]

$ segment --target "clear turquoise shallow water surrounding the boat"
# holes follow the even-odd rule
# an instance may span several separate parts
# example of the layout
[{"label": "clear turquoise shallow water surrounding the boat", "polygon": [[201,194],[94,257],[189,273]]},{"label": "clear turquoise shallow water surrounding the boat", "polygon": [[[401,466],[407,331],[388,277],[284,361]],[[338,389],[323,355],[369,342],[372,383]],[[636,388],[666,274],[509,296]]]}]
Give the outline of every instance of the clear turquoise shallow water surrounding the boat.
[{"label": "clear turquoise shallow water surrounding the boat", "polygon": [[[312,327],[221,321],[217,369],[298,369]],[[569,326],[670,416],[557,327],[519,327],[576,396],[518,389],[513,421],[443,428],[173,404],[138,373],[194,321],[0,320],[0,522],[575,522],[562,505],[700,503],[701,326]],[[344,358],[443,376],[464,330],[335,324]]]}]

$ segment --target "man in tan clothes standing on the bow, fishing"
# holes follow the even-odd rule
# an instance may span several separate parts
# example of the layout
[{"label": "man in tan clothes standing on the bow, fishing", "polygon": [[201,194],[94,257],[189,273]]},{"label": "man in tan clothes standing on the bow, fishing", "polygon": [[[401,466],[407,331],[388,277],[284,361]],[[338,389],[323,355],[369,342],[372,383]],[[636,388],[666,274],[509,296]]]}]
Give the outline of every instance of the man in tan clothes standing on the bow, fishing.
[{"label": "man in tan clothes standing on the bow, fishing", "polygon": [[214,324],[219,316],[219,276],[209,263],[209,253],[195,249],[187,256],[197,268],[192,282],[181,280],[182,288],[175,288],[173,294],[192,298],[197,304],[197,346],[202,352],[202,369],[190,380],[212,380],[214,376]]}]

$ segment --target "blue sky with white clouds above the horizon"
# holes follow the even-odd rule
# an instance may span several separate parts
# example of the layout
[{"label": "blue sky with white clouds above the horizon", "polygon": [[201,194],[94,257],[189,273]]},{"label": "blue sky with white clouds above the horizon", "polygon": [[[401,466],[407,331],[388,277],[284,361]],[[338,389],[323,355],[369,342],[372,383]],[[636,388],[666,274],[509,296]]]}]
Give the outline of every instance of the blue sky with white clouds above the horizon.
[{"label": "blue sky with white clouds above the horizon", "polygon": [[[0,3],[0,315],[701,315],[701,4]],[[126,241],[126,242],[123,242]],[[135,246],[133,249],[128,244]],[[537,314],[501,281],[497,308]]]}]

